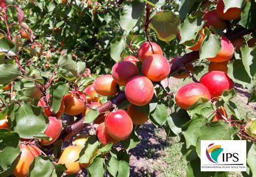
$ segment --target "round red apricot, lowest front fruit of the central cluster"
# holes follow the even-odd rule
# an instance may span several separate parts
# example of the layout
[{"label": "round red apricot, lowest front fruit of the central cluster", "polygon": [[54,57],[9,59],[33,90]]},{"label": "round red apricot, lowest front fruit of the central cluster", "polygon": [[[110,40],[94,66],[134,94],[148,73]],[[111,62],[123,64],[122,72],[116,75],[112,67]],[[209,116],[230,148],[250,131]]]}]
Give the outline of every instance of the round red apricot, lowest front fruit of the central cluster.
[{"label": "round red apricot, lowest front fruit of the central cluster", "polygon": [[154,86],[147,77],[136,75],[129,79],[124,92],[129,102],[137,106],[144,106],[151,101],[154,95]]}]

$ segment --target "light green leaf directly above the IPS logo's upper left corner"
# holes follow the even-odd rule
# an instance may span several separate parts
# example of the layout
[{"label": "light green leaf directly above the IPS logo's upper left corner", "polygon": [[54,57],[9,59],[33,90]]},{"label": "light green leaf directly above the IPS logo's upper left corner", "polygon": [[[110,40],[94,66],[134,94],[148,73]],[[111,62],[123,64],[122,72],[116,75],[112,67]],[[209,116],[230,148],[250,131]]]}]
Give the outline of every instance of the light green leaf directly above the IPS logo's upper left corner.
[{"label": "light green leaf directly above the IPS logo's upper left corner", "polygon": [[186,148],[196,146],[197,138],[199,137],[199,130],[207,123],[208,120],[205,116],[195,113],[192,120],[182,125],[182,133],[186,139]]}]

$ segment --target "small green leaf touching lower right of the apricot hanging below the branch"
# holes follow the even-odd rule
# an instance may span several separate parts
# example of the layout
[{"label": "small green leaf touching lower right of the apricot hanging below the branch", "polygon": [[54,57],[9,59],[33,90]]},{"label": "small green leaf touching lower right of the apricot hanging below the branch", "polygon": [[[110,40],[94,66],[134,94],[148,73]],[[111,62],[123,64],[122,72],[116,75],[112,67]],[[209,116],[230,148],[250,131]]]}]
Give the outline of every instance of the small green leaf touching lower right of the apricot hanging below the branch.
[{"label": "small green leaf touching lower right of the apricot hanging below the branch", "polygon": [[140,138],[135,131],[135,127],[133,127],[132,133],[125,140],[120,141],[121,145],[127,150],[127,152],[136,147],[137,144],[140,143]]}]

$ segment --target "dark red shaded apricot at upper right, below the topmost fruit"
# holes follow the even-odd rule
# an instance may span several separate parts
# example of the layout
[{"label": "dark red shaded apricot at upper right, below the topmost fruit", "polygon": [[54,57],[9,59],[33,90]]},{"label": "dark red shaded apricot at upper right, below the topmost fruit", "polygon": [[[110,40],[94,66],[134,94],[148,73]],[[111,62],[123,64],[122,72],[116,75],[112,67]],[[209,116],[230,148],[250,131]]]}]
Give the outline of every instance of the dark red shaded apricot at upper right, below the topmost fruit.
[{"label": "dark red shaded apricot at upper right, below the topmost fruit", "polygon": [[217,15],[216,9],[206,12],[202,19],[207,20],[204,27],[210,28],[210,26],[213,26],[214,28],[221,28],[222,31],[227,27],[227,22]]}]

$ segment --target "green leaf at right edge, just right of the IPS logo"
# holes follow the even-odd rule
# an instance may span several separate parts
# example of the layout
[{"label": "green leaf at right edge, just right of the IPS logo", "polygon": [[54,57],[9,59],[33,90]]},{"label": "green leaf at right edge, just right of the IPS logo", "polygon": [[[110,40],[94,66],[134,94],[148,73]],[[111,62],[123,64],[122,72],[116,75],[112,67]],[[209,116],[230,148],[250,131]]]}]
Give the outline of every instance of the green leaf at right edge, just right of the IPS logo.
[{"label": "green leaf at right edge, just right of the IPS logo", "polygon": [[256,168],[255,168],[255,164],[256,164],[256,145],[255,142],[254,144],[252,144],[251,142],[246,142],[246,162],[247,165],[250,167],[250,170],[254,175],[256,175]]}]

